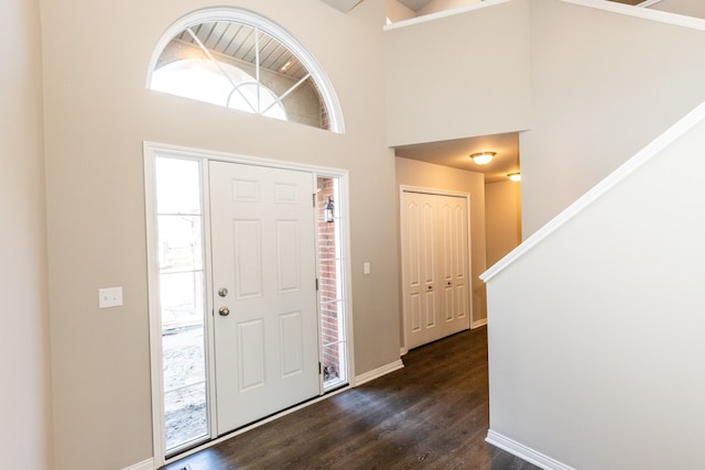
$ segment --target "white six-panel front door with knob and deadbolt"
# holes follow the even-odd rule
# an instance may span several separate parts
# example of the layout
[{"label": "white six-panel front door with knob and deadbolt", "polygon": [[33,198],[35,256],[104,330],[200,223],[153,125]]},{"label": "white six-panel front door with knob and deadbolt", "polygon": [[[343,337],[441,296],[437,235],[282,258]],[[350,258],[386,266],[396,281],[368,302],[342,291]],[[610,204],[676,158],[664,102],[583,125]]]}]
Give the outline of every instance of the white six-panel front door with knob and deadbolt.
[{"label": "white six-panel front door with knob and deadbolt", "polygon": [[321,394],[314,175],[210,162],[218,434]]}]

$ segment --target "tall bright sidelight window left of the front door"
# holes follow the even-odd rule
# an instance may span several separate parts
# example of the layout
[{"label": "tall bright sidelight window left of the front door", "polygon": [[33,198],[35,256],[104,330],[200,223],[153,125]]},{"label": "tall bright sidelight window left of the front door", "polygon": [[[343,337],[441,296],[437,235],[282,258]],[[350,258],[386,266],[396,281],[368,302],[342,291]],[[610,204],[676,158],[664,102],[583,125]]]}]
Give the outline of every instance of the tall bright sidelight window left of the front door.
[{"label": "tall bright sidelight window left of the front door", "polygon": [[200,162],[158,157],[156,231],[167,453],[208,437]]}]

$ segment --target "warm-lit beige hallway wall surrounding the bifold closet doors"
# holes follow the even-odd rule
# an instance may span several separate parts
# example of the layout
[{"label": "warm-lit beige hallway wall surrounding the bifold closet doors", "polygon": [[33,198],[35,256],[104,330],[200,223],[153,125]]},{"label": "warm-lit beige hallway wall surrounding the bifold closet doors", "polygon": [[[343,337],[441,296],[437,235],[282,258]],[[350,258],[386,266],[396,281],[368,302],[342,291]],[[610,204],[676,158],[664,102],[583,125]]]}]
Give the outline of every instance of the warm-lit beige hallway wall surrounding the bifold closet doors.
[{"label": "warm-lit beige hallway wall surrounding the bifold closet doors", "polygon": [[[485,283],[479,275],[487,269],[485,262],[485,177],[480,173],[432,165],[415,160],[397,157],[397,207],[399,186],[445,189],[470,195],[470,272],[473,277],[473,321],[487,318]],[[397,223],[399,231],[399,221]],[[401,260],[401,254],[399,254]],[[399,261],[401,270],[401,261]],[[401,273],[400,280],[401,280]],[[401,284],[398,287],[401,296]],[[401,300],[400,300],[401,302]],[[402,305],[400,303],[400,305]]]}]

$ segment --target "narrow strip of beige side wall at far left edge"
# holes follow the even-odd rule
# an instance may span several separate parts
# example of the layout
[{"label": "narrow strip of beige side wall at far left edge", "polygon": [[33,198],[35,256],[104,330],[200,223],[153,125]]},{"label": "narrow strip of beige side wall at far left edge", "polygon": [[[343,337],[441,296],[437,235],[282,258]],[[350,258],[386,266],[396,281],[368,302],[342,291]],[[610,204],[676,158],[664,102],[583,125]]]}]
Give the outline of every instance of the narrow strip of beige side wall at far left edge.
[{"label": "narrow strip of beige side wall at far left edge", "polygon": [[0,6],[0,452],[53,468],[39,2]]}]

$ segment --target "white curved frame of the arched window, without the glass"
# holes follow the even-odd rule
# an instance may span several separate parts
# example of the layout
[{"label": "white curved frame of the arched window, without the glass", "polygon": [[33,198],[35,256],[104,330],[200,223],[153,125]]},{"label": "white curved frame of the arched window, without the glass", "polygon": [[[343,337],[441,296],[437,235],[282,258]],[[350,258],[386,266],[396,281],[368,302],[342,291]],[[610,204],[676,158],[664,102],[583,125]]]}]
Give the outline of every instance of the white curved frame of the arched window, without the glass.
[{"label": "white curved frame of the arched window, without the glass", "polygon": [[301,64],[308,70],[308,73],[311,73],[311,76],[318,88],[321,98],[323,99],[328,112],[330,132],[338,134],[345,133],[345,123],[338,97],[335,94],[333,84],[315,57],[281,25],[252,11],[240,8],[208,8],[197,10],[182,17],[169,26],[152,52],[147,76],[147,88],[150,88],[152,74],[156,67],[159,57],[174,36],[180,34],[186,28],[215,21],[231,21],[235,23],[246,24],[269,34],[284,46],[289,47],[289,50],[299,58]]}]

